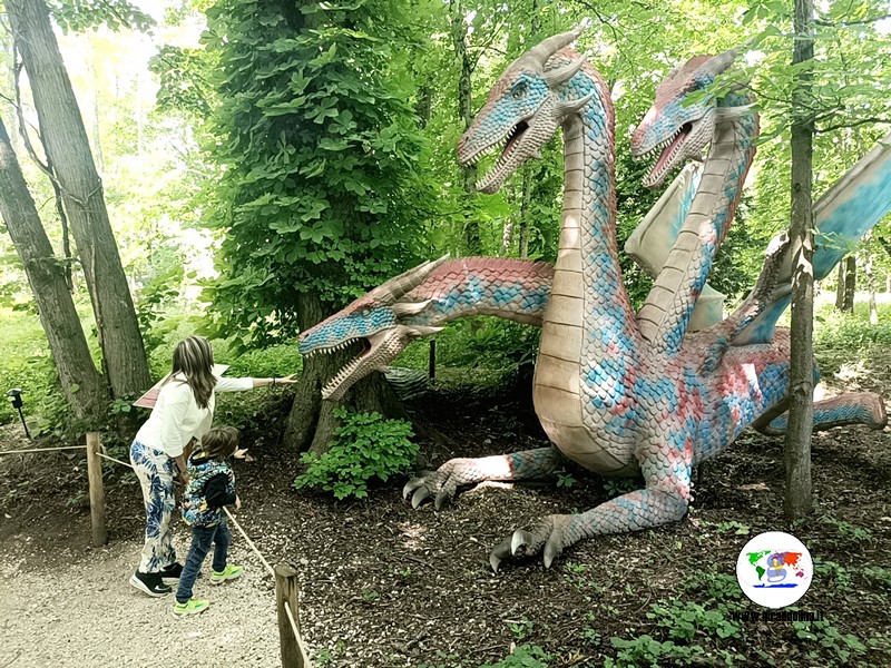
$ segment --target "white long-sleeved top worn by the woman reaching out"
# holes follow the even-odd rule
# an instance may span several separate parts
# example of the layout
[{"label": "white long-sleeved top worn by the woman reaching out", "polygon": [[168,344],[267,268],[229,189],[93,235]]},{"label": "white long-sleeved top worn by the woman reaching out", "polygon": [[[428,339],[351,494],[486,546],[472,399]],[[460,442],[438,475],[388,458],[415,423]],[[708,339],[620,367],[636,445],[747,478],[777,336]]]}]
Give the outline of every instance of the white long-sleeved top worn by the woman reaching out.
[{"label": "white long-sleeved top worn by the woman reaching out", "polygon": [[217,376],[207,407],[202,409],[195,401],[192,387],[177,374],[160,389],[155,407],[136,433],[136,440],[143,445],[163,450],[167,456],[179,456],[192,439],[200,442],[210,429],[217,392],[241,392],[253,386],[253,379]]}]

